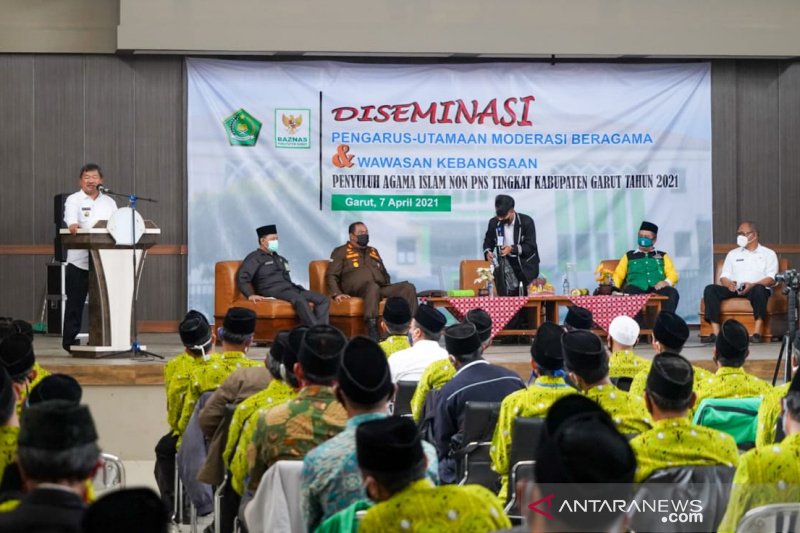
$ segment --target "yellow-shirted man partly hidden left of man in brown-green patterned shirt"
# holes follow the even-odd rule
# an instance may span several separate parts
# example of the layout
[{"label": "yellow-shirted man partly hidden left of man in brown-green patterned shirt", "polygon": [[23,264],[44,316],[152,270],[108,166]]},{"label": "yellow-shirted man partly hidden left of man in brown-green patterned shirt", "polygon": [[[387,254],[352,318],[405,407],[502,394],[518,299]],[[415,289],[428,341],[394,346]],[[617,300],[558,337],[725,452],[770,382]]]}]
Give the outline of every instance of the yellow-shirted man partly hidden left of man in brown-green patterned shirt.
[{"label": "yellow-shirted man partly hidden left of man in brown-green patterned shirt", "polygon": [[[283,339],[283,350],[270,351],[268,366],[272,381],[262,392],[257,392],[236,408],[228,428],[228,441],[222,459],[231,471],[231,487],[238,496],[245,492],[245,479],[250,471],[247,450],[253,440],[258,420],[267,410],[282,405],[297,396],[300,383],[294,374],[297,353],[308,326],[297,326]],[[280,359],[279,359],[280,358]]]}]

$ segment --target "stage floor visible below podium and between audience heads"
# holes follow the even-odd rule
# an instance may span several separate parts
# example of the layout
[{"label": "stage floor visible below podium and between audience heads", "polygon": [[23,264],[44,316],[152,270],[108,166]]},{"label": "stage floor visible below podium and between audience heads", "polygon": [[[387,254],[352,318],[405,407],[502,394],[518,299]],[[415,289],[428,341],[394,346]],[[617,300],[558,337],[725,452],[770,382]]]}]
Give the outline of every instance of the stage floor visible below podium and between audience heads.
[{"label": "stage floor visible below podium and between audience heads", "polygon": [[[134,360],[127,356],[115,359],[72,357],[62,350],[60,337],[48,335],[37,335],[34,346],[37,360],[43,367],[51,372],[71,374],[84,385],[162,384],[165,362],[182,351],[180,338],[175,333],[147,333],[142,334],[139,340],[146,345],[148,351],[163,355],[165,359]],[[700,344],[697,330],[693,330],[683,354],[694,364],[712,369],[712,346]],[[263,360],[268,349],[266,346],[253,347],[248,356]],[[653,350],[648,344],[640,344],[635,351],[644,357],[653,356]],[[745,368],[759,377],[771,380],[779,351],[778,342],[751,345]],[[486,359],[511,368],[526,379],[530,373],[529,344],[492,345],[486,353]]]}]

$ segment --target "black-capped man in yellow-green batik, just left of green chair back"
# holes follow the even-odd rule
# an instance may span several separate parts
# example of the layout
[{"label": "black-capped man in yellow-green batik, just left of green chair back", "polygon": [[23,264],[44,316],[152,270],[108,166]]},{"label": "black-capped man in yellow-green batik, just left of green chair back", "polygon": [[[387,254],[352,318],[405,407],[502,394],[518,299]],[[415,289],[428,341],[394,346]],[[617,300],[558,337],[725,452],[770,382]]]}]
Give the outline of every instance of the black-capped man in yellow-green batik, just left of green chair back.
[{"label": "black-capped man in yellow-green batik, just left of green chair back", "polygon": [[684,357],[656,355],[647,375],[645,403],[653,427],[631,440],[638,468],[636,481],[671,466],[735,466],[739,452],[727,433],[691,423],[695,404],[694,370]]}]

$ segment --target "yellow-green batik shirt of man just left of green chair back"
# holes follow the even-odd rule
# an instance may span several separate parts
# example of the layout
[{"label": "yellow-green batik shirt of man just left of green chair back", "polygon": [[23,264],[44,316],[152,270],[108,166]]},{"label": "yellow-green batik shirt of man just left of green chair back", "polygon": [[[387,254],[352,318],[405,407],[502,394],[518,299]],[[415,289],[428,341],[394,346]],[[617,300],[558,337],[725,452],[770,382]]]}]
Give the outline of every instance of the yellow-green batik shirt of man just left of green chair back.
[{"label": "yellow-green batik shirt of man just left of green chair back", "polygon": [[636,455],[636,479],[673,466],[736,466],[739,450],[727,433],[692,424],[687,417],[653,422],[653,428],[630,441]]}]

